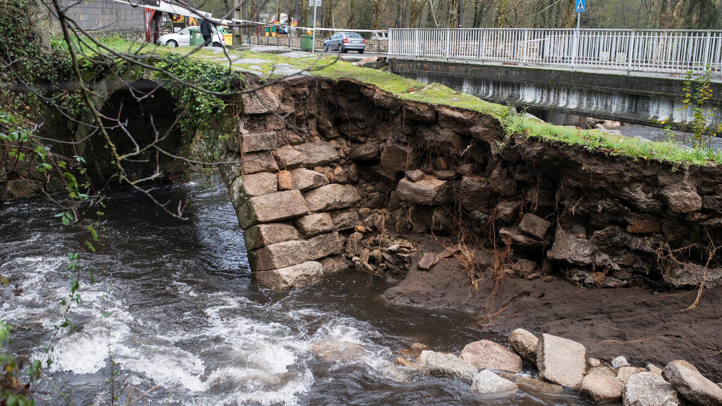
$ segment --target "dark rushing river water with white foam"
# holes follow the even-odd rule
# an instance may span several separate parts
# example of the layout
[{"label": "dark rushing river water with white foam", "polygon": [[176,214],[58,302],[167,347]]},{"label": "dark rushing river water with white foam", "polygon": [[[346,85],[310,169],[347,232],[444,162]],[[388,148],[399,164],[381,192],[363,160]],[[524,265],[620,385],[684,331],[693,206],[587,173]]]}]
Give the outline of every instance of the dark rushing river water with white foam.
[{"label": "dark rushing river water with white foam", "polygon": [[[388,286],[342,273],[309,288],[278,293],[253,283],[227,190],[218,179],[160,187],[161,201],[188,199],[188,221],[173,219],[134,192],[108,198],[104,246],[83,253],[97,281],[80,282],[81,303],[56,330],[67,299],[67,253],[87,233],[63,227],[47,200],[0,206],[0,318],[17,326],[11,350],[19,358],[47,356],[48,380],[38,405],[124,405],[155,387],[143,405],[586,405],[573,391],[526,389],[479,397],[453,379],[387,376],[400,348],[424,343],[458,353],[471,341],[504,337],[481,332],[465,314],[391,306],[378,296]],[[17,285],[17,286],[16,286]],[[311,347],[344,340],[365,348],[353,361],[323,363]],[[527,370],[521,375],[532,376]],[[67,397],[66,397],[67,399]]]}]

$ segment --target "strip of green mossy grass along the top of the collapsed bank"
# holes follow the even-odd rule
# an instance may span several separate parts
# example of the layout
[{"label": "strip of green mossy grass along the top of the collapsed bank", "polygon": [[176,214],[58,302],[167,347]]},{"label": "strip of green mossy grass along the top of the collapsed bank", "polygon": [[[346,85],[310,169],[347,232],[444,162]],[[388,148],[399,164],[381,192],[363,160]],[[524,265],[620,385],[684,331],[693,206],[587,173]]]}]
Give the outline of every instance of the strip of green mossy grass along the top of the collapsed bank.
[{"label": "strip of green mossy grass along the top of the collapsed bank", "polygon": [[[137,44],[137,43],[136,43]],[[125,40],[114,40],[108,45],[118,50],[127,51],[133,44]],[[163,53],[185,51],[192,48],[165,48],[147,46],[142,53]],[[690,149],[672,142],[644,141],[639,138],[616,136],[598,130],[578,130],[560,125],[540,123],[538,120],[524,118],[517,114],[513,107],[497,105],[474,97],[471,94],[456,92],[454,89],[440,84],[425,85],[419,81],[406,79],[396,74],[377,71],[369,68],[355,66],[345,61],[336,61],[336,56],[323,56],[316,61],[312,58],[289,58],[271,53],[252,53],[229,50],[230,56],[240,58],[258,58],[270,63],[233,64],[238,68],[247,68],[251,65],[261,66],[261,71],[271,71],[274,63],[287,63],[298,69],[307,69],[311,63],[313,76],[329,79],[354,79],[362,83],[373,84],[379,89],[390,92],[404,100],[414,100],[430,105],[448,105],[468,110],[484,112],[499,119],[508,134],[521,134],[536,138],[539,141],[561,141],[569,145],[582,146],[589,151],[597,151],[607,155],[625,155],[632,159],[645,159],[653,162],[666,162],[672,165],[673,170],[678,167],[690,165],[722,164],[722,154],[715,151],[695,148]],[[214,58],[211,58],[214,57]],[[225,58],[223,53],[212,53],[212,50],[199,50],[191,56],[209,63],[223,63],[218,58]],[[225,61],[227,64],[227,60]],[[272,77],[272,76],[271,76]]]}]

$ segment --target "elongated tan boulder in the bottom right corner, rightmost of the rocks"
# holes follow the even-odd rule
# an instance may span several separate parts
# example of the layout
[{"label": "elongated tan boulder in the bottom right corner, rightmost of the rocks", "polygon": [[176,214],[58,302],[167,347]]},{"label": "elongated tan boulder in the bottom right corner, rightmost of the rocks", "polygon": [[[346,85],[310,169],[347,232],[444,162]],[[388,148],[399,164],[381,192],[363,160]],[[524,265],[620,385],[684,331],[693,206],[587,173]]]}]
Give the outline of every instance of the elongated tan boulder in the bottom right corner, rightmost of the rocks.
[{"label": "elongated tan boulder in the bottom right corner, rightmost of the rocks", "polygon": [[687,361],[671,361],[664,367],[662,376],[682,396],[703,406],[722,406],[722,388],[705,378]]}]

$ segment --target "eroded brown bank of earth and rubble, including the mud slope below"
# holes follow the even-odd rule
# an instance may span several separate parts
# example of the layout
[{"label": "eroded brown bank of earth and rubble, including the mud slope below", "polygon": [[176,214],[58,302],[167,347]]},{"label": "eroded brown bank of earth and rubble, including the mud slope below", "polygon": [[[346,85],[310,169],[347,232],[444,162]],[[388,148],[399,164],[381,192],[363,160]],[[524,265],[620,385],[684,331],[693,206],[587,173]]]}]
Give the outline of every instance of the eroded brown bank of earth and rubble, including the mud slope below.
[{"label": "eroded brown bank of earth and rubble, including the mud slope below", "polygon": [[[357,189],[357,224],[336,227],[347,241],[338,258],[401,281],[384,299],[477,312],[487,329],[561,335],[603,358],[682,358],[722,380],[721,168],[673,170],[507,135],[483,112],[397,100],[353,81],[298,79],[264,92],[264,103],[248,100],[245,128],[279,133],[294,154],[310,143],[338,152],[303,165]],[[419,270],[419,254],[442,250],[437,237],[461,251]],[[696,295],[684,289],[703,282],[697,308],[680,312]]]}]

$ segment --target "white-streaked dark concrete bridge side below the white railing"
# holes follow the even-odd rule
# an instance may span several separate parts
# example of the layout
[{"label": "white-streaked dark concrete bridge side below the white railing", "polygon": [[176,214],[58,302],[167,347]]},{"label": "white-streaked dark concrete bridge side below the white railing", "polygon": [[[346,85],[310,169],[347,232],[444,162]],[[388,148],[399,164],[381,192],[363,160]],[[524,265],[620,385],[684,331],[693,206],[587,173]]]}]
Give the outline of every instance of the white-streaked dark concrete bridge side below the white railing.
[{"label": "white-streaked dark concrete bridge side below the white railing", "polygon": [[[682,110],[684,79],[562,71],[509,65],[482,65],[392,58],[394,74],[423,83],[439,83],[490,102],[570,115],[654,125],[664,118],[688,125],[691,110]],[[722,107],[722,84],[712,84],[709,108]],[[714,112],[716,128],[720,110]]]}]

